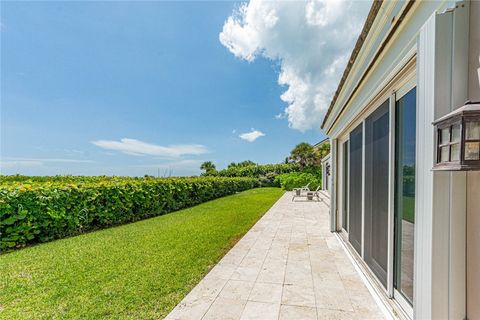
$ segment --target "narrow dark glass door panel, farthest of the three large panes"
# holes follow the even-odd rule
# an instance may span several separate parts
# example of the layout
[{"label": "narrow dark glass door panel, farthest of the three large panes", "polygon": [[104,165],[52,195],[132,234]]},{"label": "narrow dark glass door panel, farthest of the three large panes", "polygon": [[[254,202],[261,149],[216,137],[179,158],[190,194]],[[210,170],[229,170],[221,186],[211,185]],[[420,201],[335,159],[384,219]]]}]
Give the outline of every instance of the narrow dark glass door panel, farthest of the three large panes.
[{"label": "narrow dark glass door panel, farthest of the three large panes", "polygon": [[350,133],[350,170],[348,173],[348,241],[355,250],[362,252],[362,158],[363,126]]}]

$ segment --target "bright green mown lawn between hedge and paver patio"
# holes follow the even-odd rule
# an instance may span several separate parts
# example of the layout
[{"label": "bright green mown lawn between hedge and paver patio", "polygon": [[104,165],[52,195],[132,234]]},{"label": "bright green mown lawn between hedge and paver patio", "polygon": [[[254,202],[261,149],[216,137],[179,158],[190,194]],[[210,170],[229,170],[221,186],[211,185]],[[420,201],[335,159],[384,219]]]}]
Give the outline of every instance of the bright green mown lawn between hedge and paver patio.
[{"label": "bright green mown lawn between hedge and paver patio", "polygon": [[0,319],[159,319],[283,194],[261,188],[0,256]]}]

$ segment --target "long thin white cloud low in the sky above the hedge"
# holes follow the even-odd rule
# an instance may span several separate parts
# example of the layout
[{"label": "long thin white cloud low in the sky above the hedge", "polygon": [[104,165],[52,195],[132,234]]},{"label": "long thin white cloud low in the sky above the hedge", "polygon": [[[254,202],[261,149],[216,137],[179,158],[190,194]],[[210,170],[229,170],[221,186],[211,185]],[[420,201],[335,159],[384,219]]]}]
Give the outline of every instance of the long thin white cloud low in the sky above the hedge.
[{"label": "long thin white cloud low in the sky above the hedge", "polygon": [[180,157],[183,155],[199,155],[208,152],[207,147],[200,144],[160,146],[129,138],[123,138],[120,141],[97,140],[92,141],[92,143],[103,149],[120,151],[135,156]]}]

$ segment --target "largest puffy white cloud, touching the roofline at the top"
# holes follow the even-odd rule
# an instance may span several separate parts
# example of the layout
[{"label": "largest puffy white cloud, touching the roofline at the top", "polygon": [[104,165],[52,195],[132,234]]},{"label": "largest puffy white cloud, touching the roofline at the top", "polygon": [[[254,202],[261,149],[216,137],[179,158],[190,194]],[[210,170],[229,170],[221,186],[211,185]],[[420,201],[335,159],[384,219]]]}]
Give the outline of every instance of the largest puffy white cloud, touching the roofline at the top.
[{"label": "largest puffy white cloud, touching the roofline at the top", "polygon": [[370,1],[250,0],[224,23],[220,42],[246,61],[280,62],[290,127],[319,127],[368,13]]}]

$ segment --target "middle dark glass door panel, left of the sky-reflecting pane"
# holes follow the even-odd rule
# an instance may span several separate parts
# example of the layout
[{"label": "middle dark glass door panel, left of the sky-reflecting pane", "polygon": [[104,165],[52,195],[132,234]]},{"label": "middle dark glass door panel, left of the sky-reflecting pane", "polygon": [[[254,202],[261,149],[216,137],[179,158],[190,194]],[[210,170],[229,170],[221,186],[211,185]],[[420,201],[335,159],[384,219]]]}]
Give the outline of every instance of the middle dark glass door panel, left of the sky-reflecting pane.
[{"label": "middle dark glass door panel, left of the sky-reflecting pane", "polygon": [[387,287],[389,100],[365,120],[364,260]]}]

